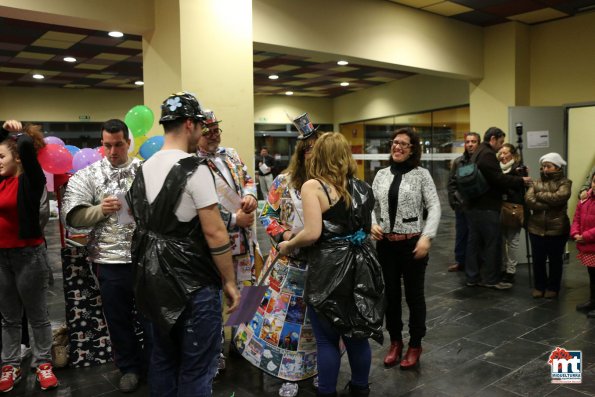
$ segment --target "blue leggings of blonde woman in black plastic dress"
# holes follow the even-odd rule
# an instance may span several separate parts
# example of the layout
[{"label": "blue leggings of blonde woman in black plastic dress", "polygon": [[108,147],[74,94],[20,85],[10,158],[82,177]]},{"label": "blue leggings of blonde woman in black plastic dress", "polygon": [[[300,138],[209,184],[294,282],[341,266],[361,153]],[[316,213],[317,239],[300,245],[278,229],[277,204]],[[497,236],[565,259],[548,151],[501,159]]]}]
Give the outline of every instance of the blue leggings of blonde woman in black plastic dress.
[{"label": "blue leggings of blonde woman in black plastic dress", "polygon": [[368,339],[348,338],[339,334],[331,323],[326,318],[318,316],[310,305],[308,305],[308,315],[316,337],[318,393],[330,394],[337,391],[337,377],[341,367],[339,338],[343,339],[347,348],[349,366],[351,367],[351,384],[367,388],[372,364],[372,352]]}]

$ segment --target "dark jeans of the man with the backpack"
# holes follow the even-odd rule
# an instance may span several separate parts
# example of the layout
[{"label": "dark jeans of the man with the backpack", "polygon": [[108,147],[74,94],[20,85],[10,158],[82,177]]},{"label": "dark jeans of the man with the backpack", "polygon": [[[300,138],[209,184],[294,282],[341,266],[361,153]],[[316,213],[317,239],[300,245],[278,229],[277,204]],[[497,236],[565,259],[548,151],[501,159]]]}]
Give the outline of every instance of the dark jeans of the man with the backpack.
[{"label": "dark jeans of the man with the backpack", "polygon": [[479,259],[483,260],[484,282],[495,285],[500,282],[502,268],[502,238],[500,235],[500,211],[470,209],[465,211],[469,223],[467,281],[481,281]]}]

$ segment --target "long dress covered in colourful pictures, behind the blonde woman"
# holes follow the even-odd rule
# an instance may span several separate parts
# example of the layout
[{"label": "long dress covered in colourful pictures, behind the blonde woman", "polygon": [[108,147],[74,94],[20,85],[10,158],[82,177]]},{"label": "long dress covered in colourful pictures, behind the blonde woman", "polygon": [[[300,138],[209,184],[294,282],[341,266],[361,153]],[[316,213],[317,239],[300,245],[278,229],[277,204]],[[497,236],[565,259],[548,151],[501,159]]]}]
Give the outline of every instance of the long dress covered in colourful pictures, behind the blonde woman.
[{"label": "long dress covered in colourful pictures, behind the blonde woman", "polygon": [[[277,257],[275,246],[283,232],[303,228],[300,192],[289,187],[289,177],[273,181],[260,215],[273,247],[263,270]],[[299,258],[281,257],[263,285],[268,289],[253,319],[238,328],[234,343],[250,363],[275,377],[299,381],[317,374],[316,340],[304,301],[308,266]]]}]

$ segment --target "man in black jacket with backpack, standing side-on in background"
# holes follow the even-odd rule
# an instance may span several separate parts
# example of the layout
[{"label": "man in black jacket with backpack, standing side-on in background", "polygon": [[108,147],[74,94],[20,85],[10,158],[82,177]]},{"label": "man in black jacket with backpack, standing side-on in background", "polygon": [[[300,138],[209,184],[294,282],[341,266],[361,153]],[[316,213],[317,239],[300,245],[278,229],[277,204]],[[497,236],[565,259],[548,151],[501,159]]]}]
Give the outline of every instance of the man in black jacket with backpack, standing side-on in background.
[{"label": "man in black jacket with backpack, standing side-on in background", "polygon": [[[488,288],[508,289],[510,283],[501,282],[502,241],[500,237],[500,208],[502,194],[509,188],[529,184],[531,178],[505,175],[500,168],[496,153],[504,143],[506,134],[500,128],[490,127],[483,136],[483,142],[471,158],[484,176],[489,188],[481,196],[469,200],[467,222],[469,241],[465,273],[467,286],[483,285]],[[482,283],[478,254],[484,259],[484,280]]]}]

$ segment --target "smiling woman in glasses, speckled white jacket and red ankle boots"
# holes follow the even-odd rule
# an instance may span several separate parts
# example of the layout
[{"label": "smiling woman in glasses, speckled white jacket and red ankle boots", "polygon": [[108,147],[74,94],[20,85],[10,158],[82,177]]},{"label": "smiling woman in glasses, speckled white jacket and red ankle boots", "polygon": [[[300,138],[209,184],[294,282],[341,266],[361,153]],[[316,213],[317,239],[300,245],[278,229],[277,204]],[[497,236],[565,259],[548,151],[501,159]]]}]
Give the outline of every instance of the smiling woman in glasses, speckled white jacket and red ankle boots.
[{"label": "smiling woman in glasses, speckled white jacket and red ankle boots", "polygon": [[[410,128],[396,130],[390,140],[390,165],[378,171],[372,189],[376,198],[372,236],[386,284],[386,328],[390,347],[384,365],[400,363],[413,368],[422,352],[426,334],[424,279],[428,252],[440,222],[440,201],[436,186],[425,168],[420,167],[421,144]],[[427,220],[424,220],[427,209]],[[409,306],[409,347],[403,351],[401,279]]]}]

